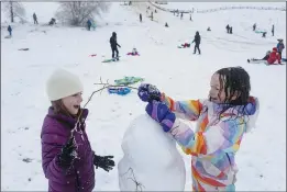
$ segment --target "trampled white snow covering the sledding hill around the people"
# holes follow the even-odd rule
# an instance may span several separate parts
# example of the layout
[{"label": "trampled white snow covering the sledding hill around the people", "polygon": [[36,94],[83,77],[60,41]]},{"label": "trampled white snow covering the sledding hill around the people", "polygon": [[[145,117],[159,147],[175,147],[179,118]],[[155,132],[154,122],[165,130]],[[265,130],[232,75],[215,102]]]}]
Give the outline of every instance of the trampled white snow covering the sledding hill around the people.
[{"label": "trampled white snow covering the sledding hill around the people", "polygon": [[[41,166],[40,132],[49,106],[45,81],[55,68],[63,67],[80,76],[86,102],[99,88],[93,83],[99,82],[100,77],[112,82],[123,76],[143,77],[145,82],[156,84],[177,100],[206,98],[210,77],[216,70],[242,66],[251,76],[252,94],[260,99],[261,113],[257,128],[245,135],[236,156],[240,170],[236,190],[285,191],[286,66],[251,65],[246,59],[263,57],[266,50],[276,46],[277,38],[286,36],[286,12],[227,10],[195,13],[191,22],[188,15],[180,20],[172,13],[158,11],[154,13],[155,22],[152,22],[146,18],[144,3],[133,7],[119,4],[112,3],[110,13],[104,13],[98,22],[100,26],[91,32],[80,27],[42,26],[57,9],[55,3],[48,2],[25,3],[26,18],[32,20],[35,11],[38,26],[32,21],[14,25],[11,39],[4,38],[7,29],[2,29],[1,190],[47,189]],[[170,8],[172,3],[168,4]],[[207,7],[203,4],[201,8]],[[139,22],[140,12],[143,23]],[[168,29],[164,27],[165,22]],[[255,22],[260,29],[268,31],[266,38],[252,32]],[[227,24],[233,26],[232,35],[225,33]],[[274,37],[271,36],[272,24],[275,24]],[[209,33],[206,31],[208,26],[211,27]],[[102,59],[111,57],[109,37],[113,31],[122,46],[119,49],[122,58],[119,63],[103,64]],[[192,48],[178,49],[178,44],[192,41],[196,31],[202,37],[202,55],[194,55]],[[140,57],[125,56],[133,46],[140,52]],[[89,57],[90,54],[97,56]],[[145,103],[140,102],[135,91],[124,97],[106,91],[96,94],[88,104],[87,132],[97,154],[114,155],[115,162],[119,162],[123,156],[123,134],[134,117],[145,113],[144,108]],[[185,190],[190,191],[190,157],[181,155],[187,169]],[[25,158],[31,162],[23,161]],[[96,191],[119,190],[117,168],[109,173],[98,169],[96,177]]]}]

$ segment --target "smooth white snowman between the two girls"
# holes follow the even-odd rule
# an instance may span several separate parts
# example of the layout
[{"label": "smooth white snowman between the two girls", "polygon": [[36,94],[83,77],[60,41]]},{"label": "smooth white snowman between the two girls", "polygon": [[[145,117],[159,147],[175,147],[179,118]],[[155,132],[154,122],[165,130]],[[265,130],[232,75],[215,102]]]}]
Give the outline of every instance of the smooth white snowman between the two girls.
[{"label": "smooth white snowman between the two girls", "polygon": [[134,118],[118,163],[121,191],[184,191],[186,169],[172,135],[147,114]]}]

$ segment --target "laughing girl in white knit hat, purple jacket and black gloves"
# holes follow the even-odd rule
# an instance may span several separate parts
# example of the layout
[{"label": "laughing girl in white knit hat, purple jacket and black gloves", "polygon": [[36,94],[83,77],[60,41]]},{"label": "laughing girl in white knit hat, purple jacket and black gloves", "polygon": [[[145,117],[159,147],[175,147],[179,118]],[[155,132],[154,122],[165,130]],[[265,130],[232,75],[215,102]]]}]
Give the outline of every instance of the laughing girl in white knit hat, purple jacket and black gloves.
[{"label": "laughing girl in white knit hat, purple jacket and black gloves", "polygon": [[98,156],[91,149],[81,109],[82,83],[69,71],[58,69],[48,78],[46,91],[52,106],[44,118],[42,167],[49,192],[91,192],[95,168],[112,170],[112,156]]}]

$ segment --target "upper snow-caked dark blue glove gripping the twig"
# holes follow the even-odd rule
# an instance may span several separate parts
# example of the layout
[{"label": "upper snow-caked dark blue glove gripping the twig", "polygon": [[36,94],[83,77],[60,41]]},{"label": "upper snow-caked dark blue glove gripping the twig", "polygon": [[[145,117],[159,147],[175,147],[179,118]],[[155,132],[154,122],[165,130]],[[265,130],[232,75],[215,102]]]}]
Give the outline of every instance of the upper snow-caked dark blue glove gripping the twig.
[{"label": "upper snow-caked dark blue glove gripping the twig", "polygon": [[159,90],[155,86],[148,83],[142,83],[139,87],[137,95],[144,102],[152,102],[153,100],[161,101]]}]

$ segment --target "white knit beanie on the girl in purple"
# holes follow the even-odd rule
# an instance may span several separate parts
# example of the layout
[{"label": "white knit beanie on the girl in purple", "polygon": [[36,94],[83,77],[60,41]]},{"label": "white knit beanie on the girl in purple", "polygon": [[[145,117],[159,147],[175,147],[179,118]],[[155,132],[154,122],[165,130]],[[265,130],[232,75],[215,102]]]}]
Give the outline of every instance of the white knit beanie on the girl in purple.
[{"label": "white knit beanie on the girl in purple", "polygon": [[79,77],[64,69],[55,70],[46,83],[46,92],[49,101],[56,101],[82,90],[84,86]]}]

